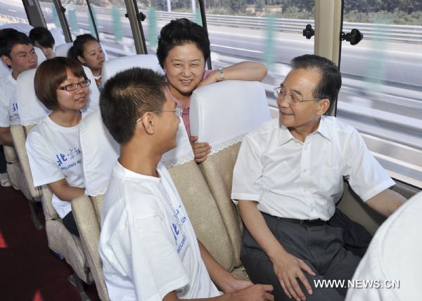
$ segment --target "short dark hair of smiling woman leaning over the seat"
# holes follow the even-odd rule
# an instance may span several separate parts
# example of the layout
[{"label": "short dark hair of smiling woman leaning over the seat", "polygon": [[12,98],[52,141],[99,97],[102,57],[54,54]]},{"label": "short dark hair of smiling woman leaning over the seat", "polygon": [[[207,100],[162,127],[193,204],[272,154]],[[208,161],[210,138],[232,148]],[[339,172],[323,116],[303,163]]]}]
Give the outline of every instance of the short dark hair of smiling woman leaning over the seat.
[{"label": "short dark hair of smiling woman leaning over the seat", "polygon": [[196,44],[205,60],[210,57],[210,39],[204,27],[185,18],[172,20],[162,27],[158,37],[157,58],[161,68],[164,68],[169,51],[184,44]]}]

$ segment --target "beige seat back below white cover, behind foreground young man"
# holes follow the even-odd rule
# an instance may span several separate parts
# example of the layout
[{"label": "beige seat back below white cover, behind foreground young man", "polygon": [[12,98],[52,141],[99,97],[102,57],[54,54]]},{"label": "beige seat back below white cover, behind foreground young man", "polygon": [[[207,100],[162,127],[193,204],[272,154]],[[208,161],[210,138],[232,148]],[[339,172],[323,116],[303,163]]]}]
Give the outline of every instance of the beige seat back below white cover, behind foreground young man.
[{"label": "beige seat back below white cover, behind foreground young man", "polygon": [[95,197],[79,196],[72,200],[72,212],[75,216],[79,236],[82,242],[84,254],[87,255],[87,264],[96,284],[98,296],[103,301],[110,300],[106,282],[103,276],[103,264],[98,242],[101,231],[101,208],[103,207],[104,195]]}]

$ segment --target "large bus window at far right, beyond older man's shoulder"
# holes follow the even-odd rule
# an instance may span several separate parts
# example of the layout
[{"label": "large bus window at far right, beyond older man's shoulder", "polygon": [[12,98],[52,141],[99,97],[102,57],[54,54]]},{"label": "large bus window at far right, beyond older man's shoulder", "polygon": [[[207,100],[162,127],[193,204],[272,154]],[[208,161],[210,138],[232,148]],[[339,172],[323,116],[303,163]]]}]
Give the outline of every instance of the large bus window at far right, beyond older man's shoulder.
[{"label": "large bus window at far right, beyond older man's shoulder", "polygon": [[362,133],[392,177],[422,187],[422,6],[364,2],[344,7],[343,31],[357,28],[364,39],[343,41],[337,116]]}]

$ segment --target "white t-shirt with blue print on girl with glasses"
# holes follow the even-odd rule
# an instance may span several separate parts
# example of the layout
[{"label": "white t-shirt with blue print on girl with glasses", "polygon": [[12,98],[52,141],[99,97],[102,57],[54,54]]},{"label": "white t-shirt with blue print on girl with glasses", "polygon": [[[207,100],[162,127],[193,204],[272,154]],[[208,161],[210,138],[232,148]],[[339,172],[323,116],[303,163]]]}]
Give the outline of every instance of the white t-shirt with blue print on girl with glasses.
[{"label": "white t-shirt with blue print on girl with glasses", "polygon": [[[79,124],[62,127],[46,116],[27,136],[26,149],[34,186],[66,179],[70,186],[84,188]],[[72,210],[70,202],[56,195],[53,195],[53,207],[60,218]]]}]

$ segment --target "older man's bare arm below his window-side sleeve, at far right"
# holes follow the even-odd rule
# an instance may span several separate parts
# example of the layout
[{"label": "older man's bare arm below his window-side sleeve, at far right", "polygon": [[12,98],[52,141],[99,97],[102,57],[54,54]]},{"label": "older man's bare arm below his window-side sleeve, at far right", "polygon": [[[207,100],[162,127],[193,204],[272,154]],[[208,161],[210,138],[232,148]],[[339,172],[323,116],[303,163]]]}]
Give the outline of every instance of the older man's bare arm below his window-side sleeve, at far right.
[{"label": "older man's bare arm below his window-side sleeve, at far right", "polygon": [[387,188],[367,200],[366,204],[373,210],[383,214],[385,217],[389,217],[390,214],[395,212],[404,202],[406,202],[406,199],[402,195]]}]

